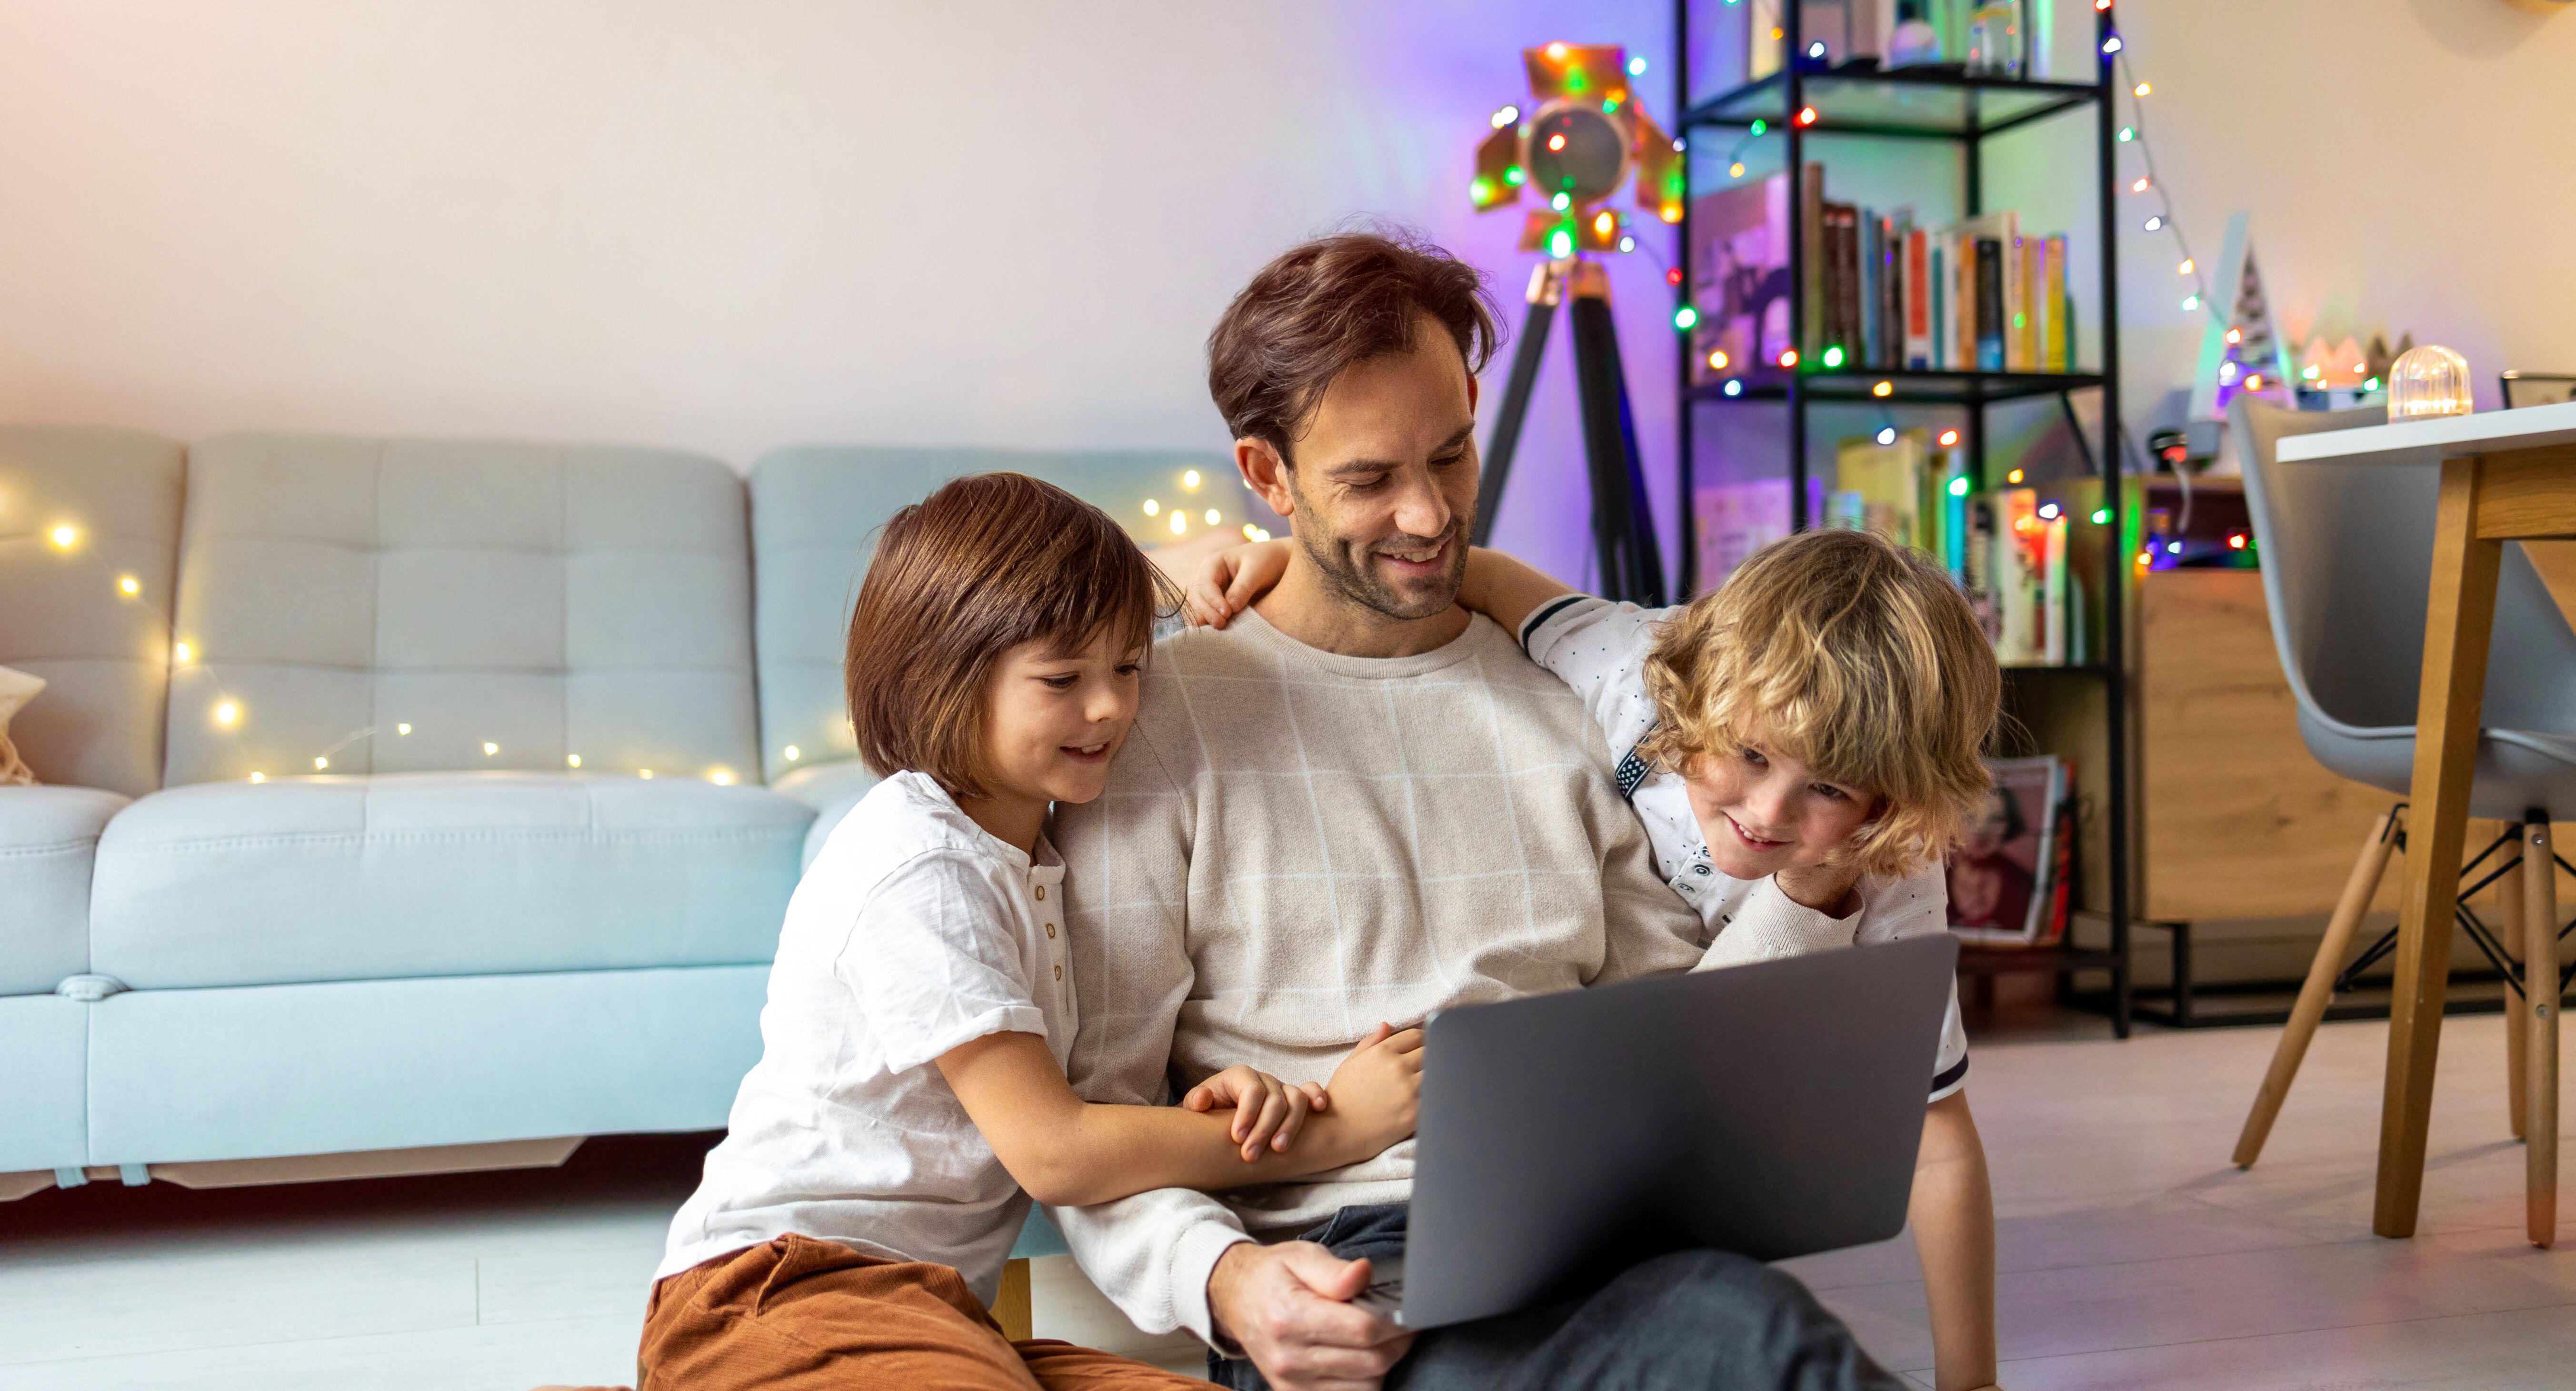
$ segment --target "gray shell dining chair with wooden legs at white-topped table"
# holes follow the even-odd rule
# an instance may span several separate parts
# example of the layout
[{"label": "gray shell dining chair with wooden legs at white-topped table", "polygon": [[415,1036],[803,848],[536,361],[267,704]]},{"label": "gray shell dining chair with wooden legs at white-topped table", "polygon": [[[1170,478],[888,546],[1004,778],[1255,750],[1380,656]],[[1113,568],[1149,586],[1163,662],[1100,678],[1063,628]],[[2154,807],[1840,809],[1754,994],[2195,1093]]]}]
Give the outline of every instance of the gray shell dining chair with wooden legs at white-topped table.
[{"label": "gray shell dining chair with wooden legs at white-topped table", "polygon": [[[2388,464],[2280,464],[2285,435],[2383,425],[2388,412],[2295,412],[2257,397],[2236,397],[2231,430],[2244,461],[2246,510],[2262,559],[2272,644],[2298,703],[2298,734],[2329,773],[2383,788],[2396,801],[2370,829],[2352,878],[2316,945],[2306,987],[2290,1012],[2272,1069],[2236,1139],[2236,1164],[2251,1167],[2272,1121],[2298,1077],[2326,1005],[2362,969],[2383,958],[2396,935],[2349,966],[2354,930],[2370,909],[2388,855],[2403,850],[2409,781],[2414,778],[2416,698],[2424,680],[2424,603],[2432,580],[2432,531],[2439,477],[2434,469]],[[2512,1059],[2512,1128],[2524,1133],[2524,1025],[2512,994],[2530,984],[2563,989],[2555,940],[2555,853],[2548,840],[2550,809],[2576,814],[2576,631],[2550,598],[2522,546],[2504,549],[2496,577],[2496,626],[2486,662],[2486,703],[2478,729],[2478,770],[2470,817],[2512,822],[2460,871],[2463,899],[2496,884],[2506,951],[2476,912],[2460,909],[2460,927],[2504,971],[2506,1041]],[[2532,953],[2535,943],[2550,951]],[[2524,971],[2514,956],[2530,961]],[[2524,979],[2527,976],[2527,979]],[[2545,1118],[2555,1133],[2555,1105]],[[2555,1182],[2555,1180],[2553,1180]]]}]

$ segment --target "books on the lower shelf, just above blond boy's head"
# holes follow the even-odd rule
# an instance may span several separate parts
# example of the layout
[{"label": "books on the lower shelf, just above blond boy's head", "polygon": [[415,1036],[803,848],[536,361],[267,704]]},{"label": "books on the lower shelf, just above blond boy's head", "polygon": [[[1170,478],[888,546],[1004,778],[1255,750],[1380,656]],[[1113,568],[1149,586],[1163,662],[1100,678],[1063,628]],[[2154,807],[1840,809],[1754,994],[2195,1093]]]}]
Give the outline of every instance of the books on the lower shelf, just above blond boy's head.
[{"label": "books on the lower shelf, just above blond boy's head", "polygon": [[1976,492],[1965,448],[1932,448],[1924,430],[1896,443],[1842,440],[1824,525],[1875,531],[1942,562],[2007,667],[2066,667],[2092,659],[2092,613],[2074,518],[2035,487]]}]

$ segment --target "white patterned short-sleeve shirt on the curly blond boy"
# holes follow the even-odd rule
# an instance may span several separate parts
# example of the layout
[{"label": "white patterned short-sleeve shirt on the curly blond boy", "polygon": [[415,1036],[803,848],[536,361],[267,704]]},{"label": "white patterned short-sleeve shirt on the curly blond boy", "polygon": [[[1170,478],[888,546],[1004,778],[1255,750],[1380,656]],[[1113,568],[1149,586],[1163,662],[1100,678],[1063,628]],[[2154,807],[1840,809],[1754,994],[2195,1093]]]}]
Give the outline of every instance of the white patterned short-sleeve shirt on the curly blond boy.
[{"label": "white patterned short-sleeve shirt on the curly blond boy", "polygon": [[[1520,623],[1520,647],[1533,662],[1556,672],[1558,680],[1582,696],[1584,708],[1600,721],[1618,755],[1618,788],[1628,796],[1646,840],[1654,845],[1654,863],[1713,935],[1747,914],[1821,920],[1811,907],[1798,904],[1772,878],[1734,878],[1721,873],[1708,858],[1708,837],[1700,835],[1698,817],[1690,814],[1690,791],[1680,773],[1649,768],[1636,755],[1662,714],[1646,693],[1646,654],[1654,649],[1656,626],[1680,608],[1638,608],[1592,595],[1566,595],[1538,605]],[[1950,891],[1940,866],[1886,878],[1860,876],[1860,922],[1855,943],[1893,943],[1950,930]],[[1940,1061],[1932,1077],[1932,1100],[1942,1100],[1968,1082],[1968,1030],[1958,1017],[1958,981],[1950,984],[1950,1012],[1940,1025]]]}]

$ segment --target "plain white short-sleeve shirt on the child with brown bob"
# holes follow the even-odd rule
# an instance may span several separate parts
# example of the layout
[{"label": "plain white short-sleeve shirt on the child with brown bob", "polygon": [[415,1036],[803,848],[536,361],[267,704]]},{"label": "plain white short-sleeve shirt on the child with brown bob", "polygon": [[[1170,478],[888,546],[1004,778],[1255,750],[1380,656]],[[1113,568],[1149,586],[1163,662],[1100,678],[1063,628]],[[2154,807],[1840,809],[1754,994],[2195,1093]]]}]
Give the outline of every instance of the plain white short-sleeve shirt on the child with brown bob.
[{"label": "plain white short-sleeve shirt on the child with brown bob", "polygon": [[1077,1023],[1054,847],[1033,860],[922,773],[886,778],[788,899],[760,1064],[654,1278],[793,1231],[953,1265],[992,1303],[1028,1195],[935,1059],[1036,1033],[1061,1066]]}]

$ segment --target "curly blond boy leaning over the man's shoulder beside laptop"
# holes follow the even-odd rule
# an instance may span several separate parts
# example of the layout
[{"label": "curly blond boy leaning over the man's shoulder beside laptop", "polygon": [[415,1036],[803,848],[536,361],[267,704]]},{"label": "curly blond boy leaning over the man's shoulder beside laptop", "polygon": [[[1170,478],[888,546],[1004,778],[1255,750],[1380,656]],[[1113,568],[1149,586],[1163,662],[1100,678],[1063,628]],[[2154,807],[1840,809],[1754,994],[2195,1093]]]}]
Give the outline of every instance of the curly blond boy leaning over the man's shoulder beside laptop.
[{"label": "curly blond boy leaning over the man's shoulder beside laptop", "polygon": [[[1190,621],[1224,626],[1285,549],[1211,559]],[[1664,881],[1713,932],[1703,969],[1947,930],[1940,858],[1989,788],[2002,672],[1929,556],[1808,531],[1649,610],[1476,549],[1458,603],[1584,698]],[[1953,989],[1911,1198],[1942,1391],[1996,1376],[1994,1198],[1965,1082]]]}]

